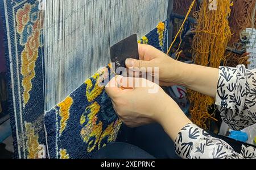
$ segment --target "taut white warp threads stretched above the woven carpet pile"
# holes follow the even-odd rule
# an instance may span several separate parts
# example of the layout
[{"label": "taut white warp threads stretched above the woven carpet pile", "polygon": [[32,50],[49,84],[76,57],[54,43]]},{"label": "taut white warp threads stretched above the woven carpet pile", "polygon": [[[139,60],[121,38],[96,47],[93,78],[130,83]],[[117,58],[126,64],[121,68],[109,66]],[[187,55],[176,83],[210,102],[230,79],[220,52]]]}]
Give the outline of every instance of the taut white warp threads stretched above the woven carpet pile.
[{"label": "taut white warp threads stretched above the woven carpet pile", "polygon": [[110,61],[110,46],[166,19],[168,0],[44,0],[46,110]]}]

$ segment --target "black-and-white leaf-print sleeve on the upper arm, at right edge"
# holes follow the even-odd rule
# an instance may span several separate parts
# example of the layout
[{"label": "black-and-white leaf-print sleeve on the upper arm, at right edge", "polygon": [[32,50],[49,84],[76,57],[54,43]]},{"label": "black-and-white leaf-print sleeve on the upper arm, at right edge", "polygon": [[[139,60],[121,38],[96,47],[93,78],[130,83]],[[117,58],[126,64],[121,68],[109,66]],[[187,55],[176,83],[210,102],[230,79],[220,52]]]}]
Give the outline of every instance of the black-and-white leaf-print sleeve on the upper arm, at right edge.
[{"label": "black-and-white leaf-print sleeve on the upper arm, at right edge", "polygon": [[256,69],[244,65],[220,67],[216,105],[230,128],[242,130],[256,123]]}]

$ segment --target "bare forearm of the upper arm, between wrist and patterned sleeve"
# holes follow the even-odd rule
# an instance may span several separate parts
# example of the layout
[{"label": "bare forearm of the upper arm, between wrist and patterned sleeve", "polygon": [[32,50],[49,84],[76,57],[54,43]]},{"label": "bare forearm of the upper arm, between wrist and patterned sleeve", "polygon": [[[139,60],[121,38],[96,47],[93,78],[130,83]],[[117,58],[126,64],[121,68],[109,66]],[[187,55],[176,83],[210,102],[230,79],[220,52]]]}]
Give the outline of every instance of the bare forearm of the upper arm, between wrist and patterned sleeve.
[{"label": "bare forearm of the upper arm, between wrist and patterned sleeve", "polygon": [[177,76],[174,81],[177,84],[211,97],[216,96],[218,69],[176,61],[175,70]]}]

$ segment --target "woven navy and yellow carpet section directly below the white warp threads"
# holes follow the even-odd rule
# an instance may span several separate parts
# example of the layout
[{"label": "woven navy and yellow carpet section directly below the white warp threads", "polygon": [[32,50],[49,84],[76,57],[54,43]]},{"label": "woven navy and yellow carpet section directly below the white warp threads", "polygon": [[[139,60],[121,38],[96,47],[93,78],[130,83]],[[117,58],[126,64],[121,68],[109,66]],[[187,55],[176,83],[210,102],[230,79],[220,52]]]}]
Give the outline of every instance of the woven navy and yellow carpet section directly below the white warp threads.
[{"label": "woven navy and yellow carpet section directly below the white warp threads", "polygon": [[[143,36],[139,43],[167,51],[168,20]],[[86,80],[46,114],[47,146],[51,158],[84,158],[117,137],[121,122],[112,103],[97,82],[114,76],[111,66]],[[68,121],[71,120],[71,121]],[[81,150],[84,151],[81,153]]]}]

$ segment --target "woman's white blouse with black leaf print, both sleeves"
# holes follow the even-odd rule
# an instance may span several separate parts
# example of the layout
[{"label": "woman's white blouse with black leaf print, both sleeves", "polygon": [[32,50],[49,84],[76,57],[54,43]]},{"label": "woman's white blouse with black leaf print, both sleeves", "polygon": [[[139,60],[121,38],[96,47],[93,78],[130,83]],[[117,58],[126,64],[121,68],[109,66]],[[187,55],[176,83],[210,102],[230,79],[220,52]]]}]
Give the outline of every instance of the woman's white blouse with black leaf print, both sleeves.
[{"label": "woman's white blouse with black leaf print, both sleeves", "polygon": [[[244,65],[220,67],[216,105],[222,119],[234,130],[256,123],[256,69]],[[237,153],[224,140],[213,138],[200,127],[189,124],[175,140],[176,153],[182,158],[256,158],[254,147],[242,146]]]}]

